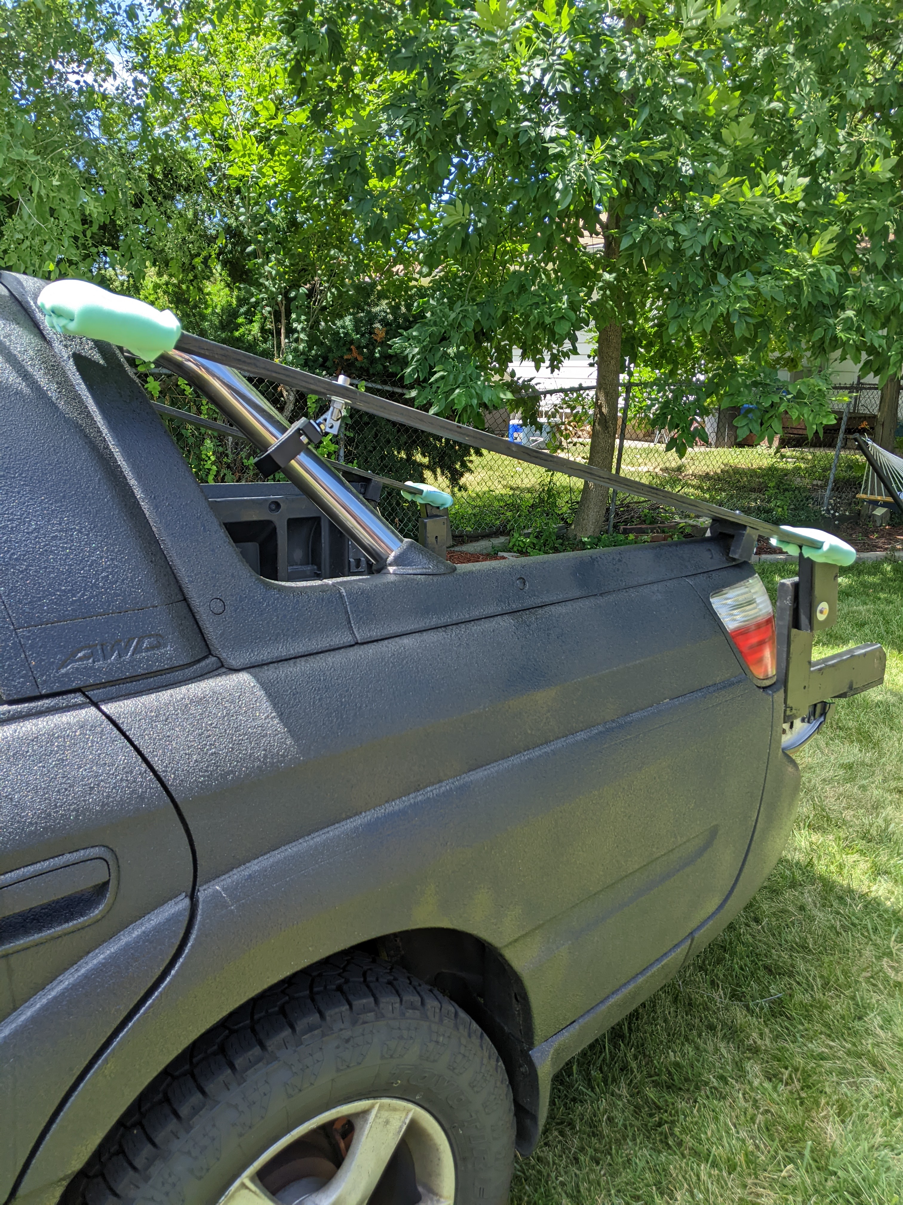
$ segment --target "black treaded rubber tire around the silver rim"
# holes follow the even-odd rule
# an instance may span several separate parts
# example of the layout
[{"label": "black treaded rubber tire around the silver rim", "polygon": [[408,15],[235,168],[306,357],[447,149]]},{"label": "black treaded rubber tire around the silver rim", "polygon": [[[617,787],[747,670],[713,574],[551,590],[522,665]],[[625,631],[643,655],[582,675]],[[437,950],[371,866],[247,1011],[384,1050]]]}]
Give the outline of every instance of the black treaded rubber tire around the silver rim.
[{"label": "black treaded rubber tire around the silver rim", "polygon": [[455,1160],[455,1205],[502,1205],[514,1109],[486,1035],[435,988],[341,954],[236,1009],[154,1080],[66,1205],[217,1205],[275,1142],[343,1101],[426,1109]]}]

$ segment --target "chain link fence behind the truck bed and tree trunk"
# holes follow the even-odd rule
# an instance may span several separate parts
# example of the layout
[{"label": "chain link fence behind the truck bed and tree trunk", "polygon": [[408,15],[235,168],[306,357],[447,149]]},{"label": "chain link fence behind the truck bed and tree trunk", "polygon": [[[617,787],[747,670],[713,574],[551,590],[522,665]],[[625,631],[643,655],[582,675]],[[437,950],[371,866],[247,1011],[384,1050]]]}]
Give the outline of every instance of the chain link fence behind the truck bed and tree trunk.
[{"label": "chain link fence behind the truck bed and tree trunk", "polygon": [[[154,372],[146,383],[157,401],[206,418],[220,417],[214,406],[172,375]],[[253,383],[288,421],[325,410],[323,399],[267,381]],[[402,400],[397,388],[367,382],[367,389]],[[698,441],[683,459],[667,451],[668,433],[656,430],[649,419],[662,389],[680,389],[685,396],[692,396],[692,387],[661,383],[635,383],[625,390],[619,423],[624,476],[774,523],[824,523],[828,484],[827,511],[836,522],[858,511],[856,494],[861,489],[864,459],[852,436],[874,433],[878,386],[860,382],[837,386],[833,407],[838,422],[811,440],[804,427],[785,424],[777,446],[751,445],[749,440],[738,443],[733,419],[739,411],[722,410],[706,419],[709,442]],[[502,437],[586,460],[592,401],[592,392],[585,389],[547,393],[538,396],[539,417],[533,425],[523,427],[518,415],[506,410],[485,415],[485,425]],[[838,452],[845,407],[846,423]],[[253,464],[254,452],[246,441],[169,418],[165,422],[201,481],[260,480]],[[341,439],[324,441],[320,451],[349,466],[396,481],[425,481],[447,489],[455,496],[450,517],[459,541],[523,531],[537,522],[568,523],[582,489],[582,482],[573,477],[467,448],[355,410],[348,411]],[[417,539],[415,504],[406,501],[399,490],[384,487],[379,509],[403,535]],[[674,517],[673,512],[637,496],[626,493],[616,496],[615,529],[663,523]]]}]

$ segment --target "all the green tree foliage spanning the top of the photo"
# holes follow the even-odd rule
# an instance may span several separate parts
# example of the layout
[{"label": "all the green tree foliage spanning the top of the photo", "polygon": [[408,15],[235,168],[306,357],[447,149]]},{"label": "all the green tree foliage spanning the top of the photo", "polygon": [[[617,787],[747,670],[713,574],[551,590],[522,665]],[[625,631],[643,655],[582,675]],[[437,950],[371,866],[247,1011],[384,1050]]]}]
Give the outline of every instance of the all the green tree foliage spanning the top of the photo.
[{"label": "all the green tree foliage spanning the top of the photo", "polygon": [[395,354],[449,412],[612,322],[707,405],[901,369],[897,0],[106,2],[0,7],[11,266],[150,265],[277,354],[403,298]]}]

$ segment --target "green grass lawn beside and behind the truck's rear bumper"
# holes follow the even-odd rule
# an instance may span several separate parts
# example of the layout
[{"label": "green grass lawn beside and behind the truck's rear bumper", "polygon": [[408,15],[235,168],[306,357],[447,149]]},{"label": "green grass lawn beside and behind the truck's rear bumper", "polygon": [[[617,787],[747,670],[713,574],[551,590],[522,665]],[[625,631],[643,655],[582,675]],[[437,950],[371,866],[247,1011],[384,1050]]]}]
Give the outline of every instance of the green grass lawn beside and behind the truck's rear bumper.
[{"label": "green grass lawn beside and behind the truck's rear bumper", "polygon": [[880,640],[886,684],[799,752],[740,916],[555,1077],[512,1205],[903,1201],[903,563],[842,570],[840,600],[820,647]]}]

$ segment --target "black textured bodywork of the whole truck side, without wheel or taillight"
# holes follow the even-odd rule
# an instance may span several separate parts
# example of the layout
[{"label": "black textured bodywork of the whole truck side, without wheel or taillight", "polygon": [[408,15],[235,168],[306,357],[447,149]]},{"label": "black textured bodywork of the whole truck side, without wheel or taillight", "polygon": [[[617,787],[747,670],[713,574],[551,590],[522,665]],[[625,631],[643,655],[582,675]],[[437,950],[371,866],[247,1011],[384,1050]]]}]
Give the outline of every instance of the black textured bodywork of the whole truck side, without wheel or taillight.
[{"label": "black textured bodywork of the whole truck side, without wheel or taillight", "polygon": [[[19,284],[41,322],[33,301],[42,282]],[[54,976],[75,976],[79,959],[189,890],[195,874],[200,884],[191,924],[144,976],[143,995],[99,1022],[100,1044],[78,1003],[90,993],[69,993],[87,1054],[73,1048],[81,1070],[66,1074],[78,1078],[51,1122],[59,1097],[29,1106],[47,1128],[20,1181],[23,1205],[52,1205],[142,1088],[230,1009],[338,948],[400,930],[452,929],[497,951],[515,972],[504,977],[523,983],[518,1009],[539,1044],[547,1092],[561,1058],[673,974],[767,874],[797,784],[792,763],[769,762],[773,692],[751,683],[708,604],[714,583],[751,572],[731,564],[728,541],[462,566],[438,578],[267,582],[214,518],[117,351],[42,340],[2,292],[0,322],[6,354],[19,348],[25,408],[52,407],[22,471],[39,480],[35,465],[71,437],[89,471],[83,464],[72,477],[70,505],[78,509],[92,474],[104,505],[122,502],[108,540],[102,505],[90,511],[96,548],[82,551],[88,527],[73,519],[82,601],[66,610],[55,581],[39,596],[42,568],[31,587],[13,583],[16,640],[40,688],[94,683],[119,733],[107,728],[98,745],[104,721],[71,698],[69,710],[4,711],[29,748],[51,760],[67,751],[59,774],[25,758],[7,784],[31,817],[14,817],[12,864],[108,845],[123,866],[117,907],[60,939],[59,951],[45,944],[23,984],[42,999]],[[57,496],[34,480],[31,505],[54,522]],[[22,507],[16,521],[26,533]],[[52,569],[69,571],[60,556]],[[92,596],[110,606],[92,610]],[[30,624],[19,622],[25,604]],[[176,611],[171,642],[161,624],[143,624]],[[11,639],[8,681],[20,683]],[[141,658],[157,671],[143,688],[108,684],[141,674],[129,664]],[[120,899],[137,912],[117,912]],[[84,960],[84,983],[96,982],[94,965]],[[29,1030],[23,1058],[39,1058],[40,1031]]]}]

